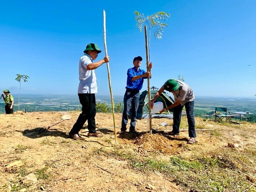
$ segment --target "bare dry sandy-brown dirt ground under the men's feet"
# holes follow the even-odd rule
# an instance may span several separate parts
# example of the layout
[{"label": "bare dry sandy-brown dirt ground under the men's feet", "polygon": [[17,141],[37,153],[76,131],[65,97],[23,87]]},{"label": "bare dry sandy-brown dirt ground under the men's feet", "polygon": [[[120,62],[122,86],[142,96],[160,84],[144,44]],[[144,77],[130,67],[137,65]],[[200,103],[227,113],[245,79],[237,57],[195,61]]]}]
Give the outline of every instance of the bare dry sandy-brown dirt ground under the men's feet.
[{"label": "bare dry sandy-brown dirt ground under the men's feet", "polygon": [[[35,173],[38,181],[26,186],[27,191],[183,191],[173,178],[165,174],[139,171],[129,166],[126,160],[98,152],[123,150],[138,157],[169,159],[181,156],[190,159],[195,154],[205,154],[230,145],[255,149],[256,125],[250,123],[243,125],[247,131],[242,134],[239,125],[227,127],[196,117],[196,129],[218,130],[223,136],[219,139],[216,131],[198,131],[196,144],[189,145],[187,131],[179,136],[150,135],[147,132],[148,121],[142,119],[137,120],[136,125],[137,131],[142,132],[141,136],[117,133],[115,143],[113,128],[98,131],[103,134],[102,138],[88,138],[84,129],[80,133],[85,137],[84,141],[68,138],[67,134],[79,112],[71,112],[70,120],[45,129],[60,121],[62,115],[64,113],[61,112],[0,115],[0,191],[24,188],[21,179],[29,173]],[[116,126],[121,125],[120,113],[115,114],[115,119]],[[160,130],[171,130],[172,119],[152,119],[153,128],[164,122],[169,125]],[[181,129],[187,129],[185,117],[182,122]],[[97,128],[112,126],[112,113],[96,114]],[[116,129],[120,131],[120,127]],[[18,160],[22,162],[21,167],[7,168]]]}]

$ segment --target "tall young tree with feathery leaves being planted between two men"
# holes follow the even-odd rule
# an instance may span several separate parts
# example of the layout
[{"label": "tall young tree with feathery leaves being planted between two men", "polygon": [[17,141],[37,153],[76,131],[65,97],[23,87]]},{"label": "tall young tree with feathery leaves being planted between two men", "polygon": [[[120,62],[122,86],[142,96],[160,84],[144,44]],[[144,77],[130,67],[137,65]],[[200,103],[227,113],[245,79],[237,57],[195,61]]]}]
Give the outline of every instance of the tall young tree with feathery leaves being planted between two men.
[{"label": "tall young tree with feathery leaves being planted between two men", "polygon": [[[147,15],[144,16],[143,13],[135,11],[135,21],[137,21],[136,26],[139,27],[139,30],[142,31],[142,25],[144,25],[144,32],[145,32],[145,44],[146,44],[146,66],[147,66],[147,72],[151,72],[149,69],[149,60],[150,60],[150,38],[151,38],[151,29],[154,29],[154,38],[161,39],[162,38],[162,32],[164,31],[164,27],[167,27],[168,25],[166,23],[161,23],[161,21],[166,21],[168,17],[170,17],[169,13],[165,12],[158,12],[151,16]],[[147,33],[146,26],[149,27],[149,34]],[[147,37],[149,36],[149,38]],[[150,101],[150,80],[148,77],[148,101]],[[149,132],[151,133],[151,114],[150,114],[150,107],[148,109],[149,111]]]}]

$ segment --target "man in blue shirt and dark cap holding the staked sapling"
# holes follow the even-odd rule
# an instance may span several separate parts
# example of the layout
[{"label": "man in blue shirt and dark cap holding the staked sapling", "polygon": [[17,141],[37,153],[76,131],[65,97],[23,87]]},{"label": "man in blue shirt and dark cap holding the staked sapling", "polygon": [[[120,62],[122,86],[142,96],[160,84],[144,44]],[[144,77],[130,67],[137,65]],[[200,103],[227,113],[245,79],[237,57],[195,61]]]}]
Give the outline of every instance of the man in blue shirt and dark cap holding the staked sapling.
[{"label": "man in blue shirt and dark cap holding the staked sapling", "polygon": [[[129,132],[139,134],[139,132],[135,131],[135,125],[137,109],[139,107],[140,90],[142,88],[144,79],[147,79],[148,77],[151,78],[151,73],[139,68],[141,66],[141,61],[141,56],[135,57],[133,59],[134,67],[128,69],[127,71],[127,86],[125,87],[126,91],[123,97],[123,117],[121,126],[122,134],[126,132],[126,125],[128,123],[128,114],[130,108],[132,113]],[[152,68],[152,63],[149,64],[148,68]]]}]

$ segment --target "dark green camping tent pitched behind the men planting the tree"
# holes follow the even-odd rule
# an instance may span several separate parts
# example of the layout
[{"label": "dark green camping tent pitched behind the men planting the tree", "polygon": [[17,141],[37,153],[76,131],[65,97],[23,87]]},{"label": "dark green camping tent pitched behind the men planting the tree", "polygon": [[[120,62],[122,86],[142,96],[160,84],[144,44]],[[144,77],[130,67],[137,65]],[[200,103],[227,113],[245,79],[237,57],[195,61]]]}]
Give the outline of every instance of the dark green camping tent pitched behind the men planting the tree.
[{"label": "dark green camping tent pitched behind the men planting the tree", "polygon": [[[154,98],[156,92],[158,92],[158,88],[152,86],[150,88],[150,98]],[[160,94],[160,96],[156,99],[155,102],[162,102],[164,104],[164,108],[167,108],[168,106],[170,106],[171,104],[174,103],[174,100],[169,97],[166,92],[162,92]],[[173,118],[173,109],[169,109],[167,111],[168,113],[166,114],[152,114],[152,118]],[[129,115],[131,115],[131,110]],[[141,92],[140,94],[140,101],[139,101],[139,108],[137,110],[137,119],[143,119],[143,118],[147,118],[148,117],[148,90],[144,90],[143,92]]]}]

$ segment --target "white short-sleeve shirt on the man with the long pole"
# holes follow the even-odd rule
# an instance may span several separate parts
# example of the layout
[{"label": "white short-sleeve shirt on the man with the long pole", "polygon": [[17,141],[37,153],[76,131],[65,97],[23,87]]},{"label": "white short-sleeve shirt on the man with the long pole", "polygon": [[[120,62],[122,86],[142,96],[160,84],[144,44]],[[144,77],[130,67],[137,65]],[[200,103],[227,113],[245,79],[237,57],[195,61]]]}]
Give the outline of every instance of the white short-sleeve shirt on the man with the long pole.
[{"label": "white short-sleeve shirt on the man with the long pole", "polygon": [[86,53],[79,61],[79,86],[78,93],[97,93],[97,79],[95,71],[87,70],[86,67],[92,63],[92,58]]}]

